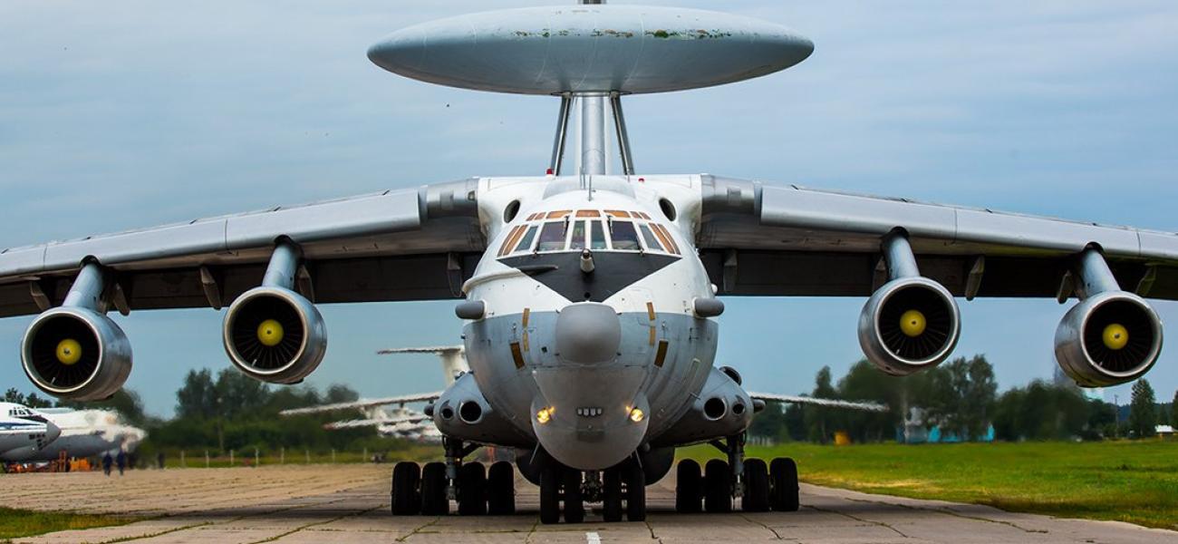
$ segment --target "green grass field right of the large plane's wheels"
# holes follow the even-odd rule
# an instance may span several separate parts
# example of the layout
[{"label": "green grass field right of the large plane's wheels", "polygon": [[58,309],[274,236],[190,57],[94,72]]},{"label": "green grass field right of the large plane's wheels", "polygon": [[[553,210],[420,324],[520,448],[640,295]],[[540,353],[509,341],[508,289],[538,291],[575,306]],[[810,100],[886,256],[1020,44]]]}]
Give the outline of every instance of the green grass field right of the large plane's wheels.
[{"label": "green grass field right of the large plane's wheels", "polygon": [[[710,446],[680,450],[697,460]],[[748,447],[798,459],[812,484],[1007,511],[1178,529],[1178,442]]]}]

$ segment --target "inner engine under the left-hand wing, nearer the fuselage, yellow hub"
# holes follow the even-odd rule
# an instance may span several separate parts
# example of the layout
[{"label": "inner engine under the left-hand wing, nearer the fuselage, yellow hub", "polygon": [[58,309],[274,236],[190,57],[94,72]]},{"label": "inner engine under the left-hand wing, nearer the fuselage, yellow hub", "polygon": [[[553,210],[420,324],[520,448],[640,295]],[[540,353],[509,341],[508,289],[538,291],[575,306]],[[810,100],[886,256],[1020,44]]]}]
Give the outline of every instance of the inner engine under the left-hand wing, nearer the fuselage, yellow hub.
[{"label": "inner engine under the left-hand wing, nearer the fuselage, yellow hub", "polygon": [[327,351],[319,310],[284,287],[254,287],[237,298],[221,329],[225,352],[241,372],[273,384],[297,384]]}]

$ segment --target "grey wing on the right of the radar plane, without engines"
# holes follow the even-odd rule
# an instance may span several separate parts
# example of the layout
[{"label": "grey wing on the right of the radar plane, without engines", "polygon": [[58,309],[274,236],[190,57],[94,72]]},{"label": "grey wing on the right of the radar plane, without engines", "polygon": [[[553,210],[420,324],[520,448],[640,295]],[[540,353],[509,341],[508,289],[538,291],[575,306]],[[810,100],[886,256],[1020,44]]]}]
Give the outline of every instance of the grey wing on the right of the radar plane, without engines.
[{"label": "grey wing on the right of the radar plane, without engines", "polygon": [[697,246],[719,294],[869,296],[880,240],[908,232],[920,272],[954,296],[1058,297],[1098,244],[1121,288],[1178,299],[1178,234],[704,177]]}]

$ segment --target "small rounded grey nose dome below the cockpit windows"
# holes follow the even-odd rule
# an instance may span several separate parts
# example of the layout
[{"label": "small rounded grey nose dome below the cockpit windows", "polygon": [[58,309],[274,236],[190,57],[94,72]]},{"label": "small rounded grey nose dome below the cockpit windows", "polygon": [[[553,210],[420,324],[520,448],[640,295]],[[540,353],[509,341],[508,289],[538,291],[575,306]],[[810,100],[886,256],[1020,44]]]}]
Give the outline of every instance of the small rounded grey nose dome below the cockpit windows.
[{"label": "small rounded grey nose dome below the cockpit windows", "polygon": [[605,363],[617,357],[622,323],[617,312],[600,303],[565,306],[556,318],[556,352],[570,363]]}]

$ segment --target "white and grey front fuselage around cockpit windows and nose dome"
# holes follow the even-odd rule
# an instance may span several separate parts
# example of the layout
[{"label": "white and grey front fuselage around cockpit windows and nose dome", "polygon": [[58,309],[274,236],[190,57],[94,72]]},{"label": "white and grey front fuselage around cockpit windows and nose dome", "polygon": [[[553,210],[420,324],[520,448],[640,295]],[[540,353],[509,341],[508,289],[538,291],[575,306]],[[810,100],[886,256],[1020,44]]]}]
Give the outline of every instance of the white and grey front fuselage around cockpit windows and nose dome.
[{"label": "white and grey front fuselage around cockpit windows and nose dome", "polygon": [[[600,469],[624,459],[635,447],[671,427],[697,400],[708,379],[715,357],[716,324],[696,317],[693,306],[696,298],[714,297],[714,286],[693,244],[700,224],[701,183],[699,175],[594,177],[591,194],[587,183],[568,177],[496,178],[479,183],[479,211],[489,245],[463,286],[468,300],[485,304],[484,318],[468,321],[464,334],[474,380],[489,409],[498,412],[519,436],[538,442],[567,465]],[[661,199],[674,208],[674,218],[663,213]],[[504,210],[516,200],[518,213],[505,218]],[[580,291],[565,288],[562,293],[552,286],[554,276],[570,278],[571,268],[556,271],[551,264],[528,264],[575,259],[582,250],[570,245],[562,251],[543,252],[534,241],[531,251],[512,252],[509,247],[501,256],[504,243],[510,241],[517,227],[538,224],[538,238],[543,223],[532,218],[552,214],[551,220],[560,220],[556,215],[565,211],[570,212],[569,231],[578,219],[603,220],[616,211],[638,215],[614,217],[613,227],[618,228],[617,223],[622,221],[646,225],[651,232],[661,227],[664,234],[655,233],[661,240],[659,245],[677,251],[656,251],[646,243],[634,252],[616,247],[591,250],[597,263],[591,273],[597,281],[624,272],[634,276],[633,270],[623,270],[630,266],[662,264],[647,276],[635,276],[633,283],[622,281],[608,296],[584,303]],[[577,212],[585,215],[578,218]],[[597,217],[588,217],[595,213]],[[567,232],[567,237],[571,234]],[[640,231],[638,237],[644,234]],[[671,244],[667,244],[666,237]],[[524,235],[514,238],[519,240]],[[512,257],[517,258],[516,266],[504,263],[504,258],[511,261]],[[525,271],[529,266],[547,266],[550,271]],[[574,271],[574,281],[581,278],[578,274],[589,273],[582,271]],[[603,304],[617,316],[622,339],[616,359],[587,365],[555,353],[555,321],[575,304]],[[660,358],[662,343],[667,345]],[[516,360],[512,350],[518,351],[522,360]],[[443,394],[442,405],[448,403]],[[461,399],[455,404],[461,404]],[[542,409],[552,412],[550,422],[537,422],[537,411]],[[597,409],[601,413],[594,412]],[[630,417],[634,409],[642,411],[641,418]],[[584,412],[593,416],[585,417]],[[443,432],[462,432],[457,424],[446,426],[439,416],[435,418]],[[458,419],[451,418],[451,422]],[[496,442],[485,434],[465,438]],[[512,444],[507,438],[503,443]]]}]

